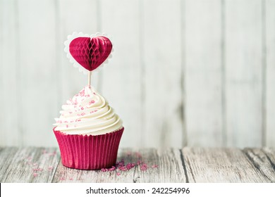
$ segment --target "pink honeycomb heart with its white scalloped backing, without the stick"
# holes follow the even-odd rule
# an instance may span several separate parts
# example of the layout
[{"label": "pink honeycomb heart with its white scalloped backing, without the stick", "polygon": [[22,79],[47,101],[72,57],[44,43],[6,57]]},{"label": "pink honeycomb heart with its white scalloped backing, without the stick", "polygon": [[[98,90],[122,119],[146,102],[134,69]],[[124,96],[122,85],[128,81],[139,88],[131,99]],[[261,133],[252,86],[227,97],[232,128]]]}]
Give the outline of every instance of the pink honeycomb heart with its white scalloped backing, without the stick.
[{"label": "pink honeycomb heart with its white scalloped backing, without the stick", "polygon": [[81,32],[68,36],[65,46],[70,61],[84,73],[87,73],[87,70],[95,70],[102,63],[106,63],[113,48],[110,39],[104,34],[97,33],[89,36]]}]

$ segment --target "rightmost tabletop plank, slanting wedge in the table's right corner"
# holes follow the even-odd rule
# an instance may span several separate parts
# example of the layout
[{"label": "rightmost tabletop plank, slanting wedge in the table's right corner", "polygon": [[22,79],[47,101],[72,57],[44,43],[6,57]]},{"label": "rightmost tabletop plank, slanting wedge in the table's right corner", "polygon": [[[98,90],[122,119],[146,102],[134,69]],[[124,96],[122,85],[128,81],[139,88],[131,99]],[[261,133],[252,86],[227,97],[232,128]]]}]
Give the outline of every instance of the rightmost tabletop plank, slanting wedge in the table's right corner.
[{"label": "rightmost tabletop plank, slanting wedge in the table's right corner", "polygon": [[[271,149],[267,149],[267,151],[270,152]],[[245,148],[243,152],[264,177],[270,182],[275,182],[275,164],[272,163],[267,153],[259,148]]]}]

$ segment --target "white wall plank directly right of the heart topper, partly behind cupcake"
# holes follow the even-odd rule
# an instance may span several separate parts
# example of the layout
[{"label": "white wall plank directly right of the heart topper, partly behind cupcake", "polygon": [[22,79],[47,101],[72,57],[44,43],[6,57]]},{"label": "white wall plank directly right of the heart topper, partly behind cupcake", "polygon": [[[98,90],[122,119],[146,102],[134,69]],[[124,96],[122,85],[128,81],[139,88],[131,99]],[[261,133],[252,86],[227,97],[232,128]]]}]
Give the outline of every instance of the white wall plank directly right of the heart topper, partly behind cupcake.
[{"label": "white wall plank directly right of the heart topper, partly behind cupcake", "polygon": [[[114,42],[114,58],[99,70],[102,72],[102,95],[121,116],[126,128],[121,147],[138,147],[144,139],[137,135],[142,131],[140,2],[99,1],[102,32],[109,34]],[[127,36],[129,39],[126,39]]]}]

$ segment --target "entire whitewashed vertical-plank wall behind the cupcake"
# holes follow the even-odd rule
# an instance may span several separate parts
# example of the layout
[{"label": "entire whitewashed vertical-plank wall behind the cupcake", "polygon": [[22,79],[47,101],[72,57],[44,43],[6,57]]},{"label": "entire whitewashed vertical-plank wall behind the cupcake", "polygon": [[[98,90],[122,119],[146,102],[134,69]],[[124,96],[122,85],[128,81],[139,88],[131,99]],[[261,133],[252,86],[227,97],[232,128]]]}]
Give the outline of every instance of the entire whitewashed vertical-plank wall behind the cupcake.
[{"label": "entire whitewashed vertical-plank wall behind the cupcake", "polygon": [[63,52],[74,31],[112,37],[92,84],[121,147],[275,146],[275,0],[0,0],[0,146],[57,146],[87,83]]}]

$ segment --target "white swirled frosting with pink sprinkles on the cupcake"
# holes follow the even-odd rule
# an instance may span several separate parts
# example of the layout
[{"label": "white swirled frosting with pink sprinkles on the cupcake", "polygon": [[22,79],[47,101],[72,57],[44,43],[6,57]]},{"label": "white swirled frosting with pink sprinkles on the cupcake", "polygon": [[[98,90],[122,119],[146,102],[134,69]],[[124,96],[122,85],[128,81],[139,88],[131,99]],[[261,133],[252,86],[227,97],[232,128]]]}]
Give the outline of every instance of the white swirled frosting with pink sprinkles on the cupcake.
[{"label": "white swirled frosting with pink sprinkles on the cupcake", "polygon": [[62,106],[55,131],[99,135],[121,129],[122,120],[93,87],[85,87]]}]

